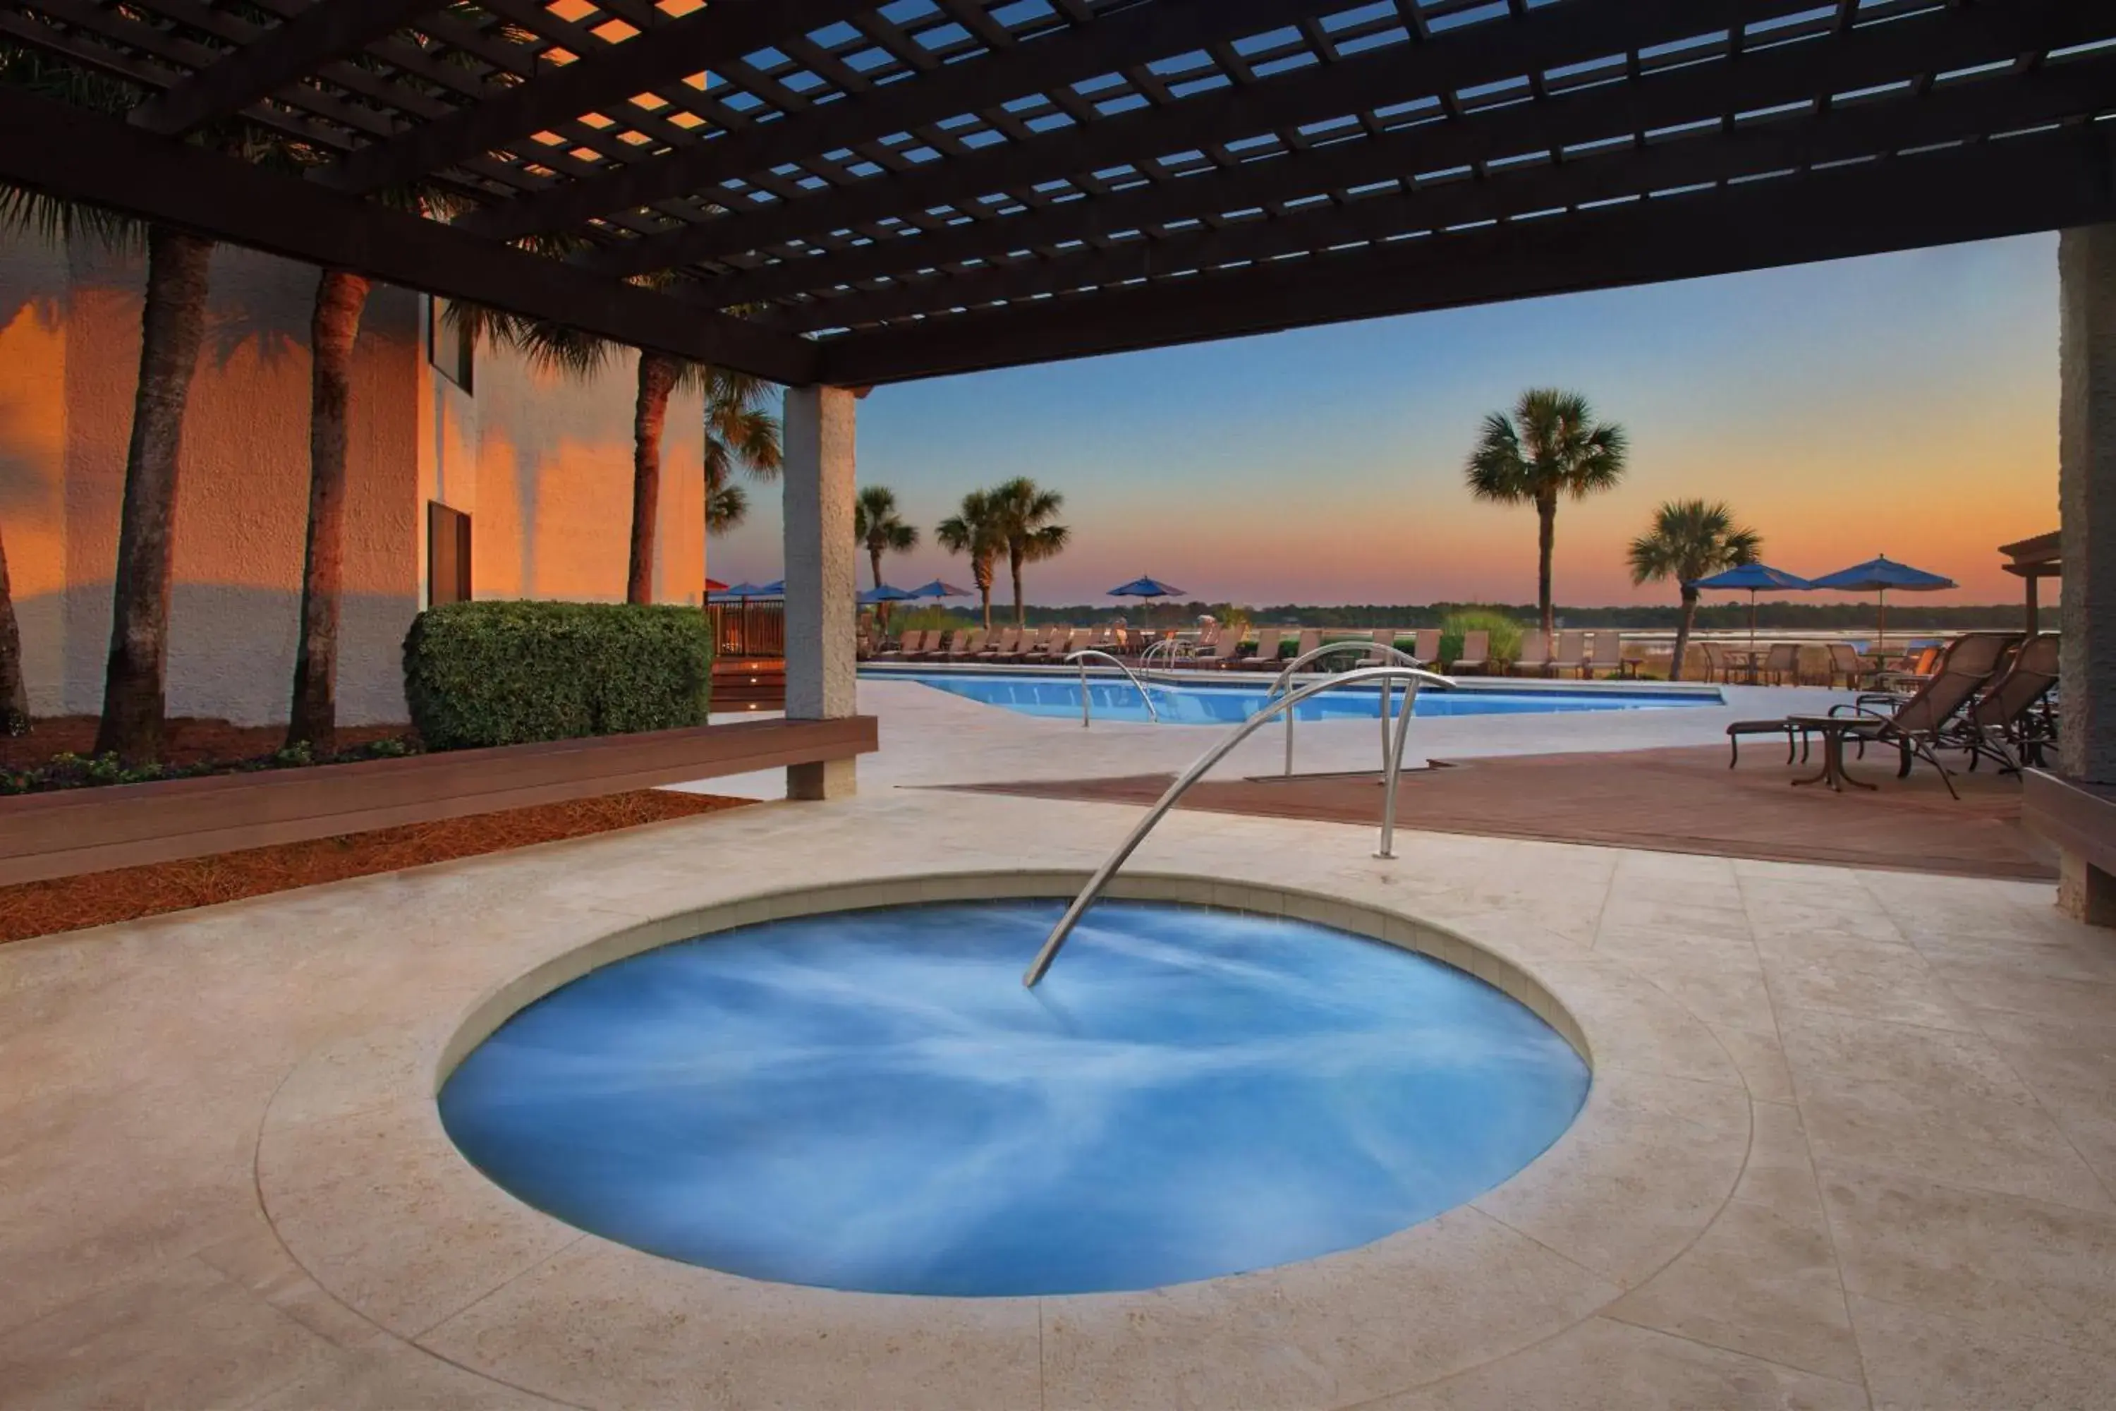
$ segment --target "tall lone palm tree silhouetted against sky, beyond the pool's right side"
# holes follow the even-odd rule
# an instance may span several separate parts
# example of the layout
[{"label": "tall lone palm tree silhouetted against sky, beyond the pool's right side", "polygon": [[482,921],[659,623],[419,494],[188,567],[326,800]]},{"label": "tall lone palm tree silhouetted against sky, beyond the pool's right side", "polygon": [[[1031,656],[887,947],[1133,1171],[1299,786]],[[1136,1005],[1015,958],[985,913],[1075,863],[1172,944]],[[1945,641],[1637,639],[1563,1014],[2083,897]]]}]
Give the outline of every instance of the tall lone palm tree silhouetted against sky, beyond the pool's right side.
[{"label": "tall lone palm tree silhouetted against sky, beyond the pool's right side", "polygon": [[1551,633],[1551,546],[1557,539],[1557,497],[1585,499],[1623,478],[1629,436],[1617,423],[1598,423],[1587,398],[1576,391],[1530,387],[1507,413],[1483,419],[1477,448],[1469,455],[1469,489],[1477,499],[1517,506],[1534,503],[1536,603],[1543,630]]}]

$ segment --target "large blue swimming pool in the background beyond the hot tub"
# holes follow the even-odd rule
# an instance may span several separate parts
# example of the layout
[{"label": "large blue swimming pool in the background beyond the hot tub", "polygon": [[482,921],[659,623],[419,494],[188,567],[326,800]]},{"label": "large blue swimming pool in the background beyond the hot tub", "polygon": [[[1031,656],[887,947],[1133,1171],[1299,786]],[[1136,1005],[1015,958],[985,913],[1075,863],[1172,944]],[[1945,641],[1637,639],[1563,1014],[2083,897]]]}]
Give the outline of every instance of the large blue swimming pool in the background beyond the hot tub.
[{"label": "large blue swimming pool in the background beyond the hot tub", "polygon": [[[863,671],[878,681],[916,681],[950,696],[1001,707],[1020,715],[1079,719],[1079,675],[1066,671],[990,673],[990,671]],[[1162,723],[1234,726],[1263,709],[1272,679],[1257,673],[1236,681],[1147,683]],[[1147,721],[1138,688],[1124,677],[1088,677],[1094,719]],[[1674,692],[1648,683],[1598,683],[1591,690],[1562,685],[1504,690],[1500,685],[1466,685],[1462,690],[1418,692],[1413,715],[1562,715],[1576,711],[1661,711],[1720,704],[1718,692]],[[1312,696],[1293,707],[1299,719],[1375,719],[1382,713],[1378,688],[1346,685]]]}]

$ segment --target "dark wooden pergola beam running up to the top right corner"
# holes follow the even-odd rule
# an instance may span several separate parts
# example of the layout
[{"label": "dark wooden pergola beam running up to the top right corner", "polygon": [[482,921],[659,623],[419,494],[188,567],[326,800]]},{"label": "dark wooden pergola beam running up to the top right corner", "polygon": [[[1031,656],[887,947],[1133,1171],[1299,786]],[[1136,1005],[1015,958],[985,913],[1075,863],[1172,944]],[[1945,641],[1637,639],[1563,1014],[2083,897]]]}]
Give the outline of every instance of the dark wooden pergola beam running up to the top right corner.
[{"label": "dark wooden pergola beam running up to the top right corner", "polygon": [[[2057,0],[1978,8],[1932,23],[1936,19],[1942,19],[1942,13],[1932,11],[1887,25],[1748,53],[1739,63],[1691,63],[1665,74],[1646,74],[1638,83],[1591,85],[1536,104],[1504,104],[1378,138],[1151,182],[1092,201],[1069,201],[942,231],[884,237],[851,250],[785,258],[711,279],[705,292],[722,307],[758,305],[912,271],[995,260],[1066,241],[1109,239],[1172,220],[1274,207],[1413,171],[1555,150],[1579,142],[1583,133],[1604,138],[1642,133],[1727,112],[1756,112],[1811,99],[1818,91],[1868,89],[1991,57],[2074,44],[2095,34],[2084,17]],[[846,298],[857,300],[861,294],[853,292]],[[838,305],[836,296],[819,300],[817,317]],[[806,317],[794,313],[794,322]]]}]

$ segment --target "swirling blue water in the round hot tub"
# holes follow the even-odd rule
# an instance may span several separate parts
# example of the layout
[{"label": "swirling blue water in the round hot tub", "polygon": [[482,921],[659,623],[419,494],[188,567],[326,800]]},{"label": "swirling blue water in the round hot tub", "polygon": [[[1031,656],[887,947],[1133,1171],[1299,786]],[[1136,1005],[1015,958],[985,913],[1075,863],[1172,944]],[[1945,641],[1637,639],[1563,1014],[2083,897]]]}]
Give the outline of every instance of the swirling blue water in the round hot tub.
[{"label": "swirling blue water in the round hot tub", "polygon": [[1153,1288],[1354,1248],[1492,1189],[1587,1066],[1471,975],[1276,916],[1058,901],[781,920],[595,971],[440,1094],[582,1229],[912,1295]]}]

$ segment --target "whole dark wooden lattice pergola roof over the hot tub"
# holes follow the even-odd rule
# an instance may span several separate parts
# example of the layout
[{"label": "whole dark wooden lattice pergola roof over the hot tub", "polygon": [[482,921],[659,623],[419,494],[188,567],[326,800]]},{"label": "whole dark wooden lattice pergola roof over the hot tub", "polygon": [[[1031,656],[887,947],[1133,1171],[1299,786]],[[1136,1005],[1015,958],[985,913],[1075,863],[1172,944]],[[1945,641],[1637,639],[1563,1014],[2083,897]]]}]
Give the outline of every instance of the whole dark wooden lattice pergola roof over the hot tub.
[{"label": "whole dark wooden lattice pergola roof over the hot tub", "polygon": [[2116,218],[2105,0],[0,0],[0,40],[133,95],[0,87],[0,180],[787,385]]}]

